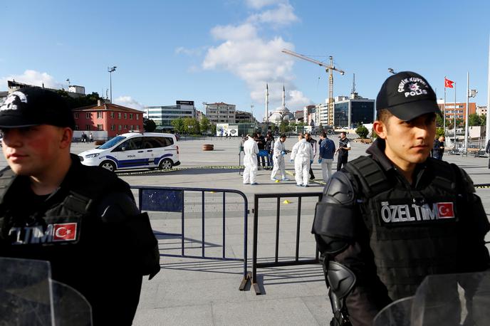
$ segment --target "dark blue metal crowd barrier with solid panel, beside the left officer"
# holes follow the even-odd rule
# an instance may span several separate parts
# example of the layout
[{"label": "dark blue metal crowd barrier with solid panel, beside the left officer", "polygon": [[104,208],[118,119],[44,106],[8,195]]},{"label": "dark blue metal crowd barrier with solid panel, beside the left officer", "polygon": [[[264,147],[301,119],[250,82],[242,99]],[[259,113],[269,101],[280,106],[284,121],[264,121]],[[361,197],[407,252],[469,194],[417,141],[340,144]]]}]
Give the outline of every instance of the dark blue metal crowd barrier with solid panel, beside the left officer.
[{"label": "dark blue metal crowd barrier with solid panel, beside the left officer", "polygon": [[[177,257],[184,258],[203,258],[214,259],[222,261],[243,261],[244,262],[244,277],[241,281],[239,290],[244,290],[246,281],[249,278],[247,272],[247,238],[248,238],[248,214],[249,204],[246,196],[243,192],[233,189],[211,189],[211,188],[191,188],[191,187],[172,187],[172,186],[131,186],[131,189],[137,189],[138,202],[141,211],[165,211],[165,212],[180,212],[181,213],[181,233],[162,233],[166,236],[178,236],[181,238],[181,254]],[[202,194],[202,255],[201,256],[189,256],[185,254],[185,209],[184,209],[184,194],[187,191],[197,191]],[[205,193],[222,193],[223,194],[223,238],[222,246],[223,252],[221,257],[208,257],[205,254]],[[244,199],[244,258],[228,258],[225,253],[226,244],[226,194],[238,194]],[[170,254],[163,254],[162,256],[176,256]]]}]

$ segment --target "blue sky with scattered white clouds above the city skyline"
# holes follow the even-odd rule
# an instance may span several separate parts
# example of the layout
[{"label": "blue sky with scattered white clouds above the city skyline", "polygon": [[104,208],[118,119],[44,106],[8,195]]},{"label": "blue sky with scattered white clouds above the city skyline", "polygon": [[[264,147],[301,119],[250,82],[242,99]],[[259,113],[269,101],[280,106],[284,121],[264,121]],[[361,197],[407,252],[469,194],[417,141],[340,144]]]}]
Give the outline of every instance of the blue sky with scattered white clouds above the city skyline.
[{"label": "blue sky with scattered white clouds above the city skyline", "polygon": [[[444,96],[444,76],[466,101],[486,105],[490,1],[476,0],[111,0],[0,2],[0,90],[6,80],[48,88],[85,86],[142,110],[193,100],[226,102],[261,120],[325,102],[328,75],[283,48],[328,62],[334,96],[353,87],[376,98],[387,68],[423,75]],[[447,101],[454,90],[447,90]],[[253,105],[253,108],[252,108]]]}]

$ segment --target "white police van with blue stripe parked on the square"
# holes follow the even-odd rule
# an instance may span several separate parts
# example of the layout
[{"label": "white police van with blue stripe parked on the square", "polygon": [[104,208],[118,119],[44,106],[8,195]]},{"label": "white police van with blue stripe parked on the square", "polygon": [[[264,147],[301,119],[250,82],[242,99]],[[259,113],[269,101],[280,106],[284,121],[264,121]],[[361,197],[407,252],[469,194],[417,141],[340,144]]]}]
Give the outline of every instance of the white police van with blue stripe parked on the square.
[{"label": "white police van with blue stripe parked on the square", "polygon": [[130,132],[78,154],[82,164],[118,169],[171,169],[179,165],[179,147],[172,134]]}]

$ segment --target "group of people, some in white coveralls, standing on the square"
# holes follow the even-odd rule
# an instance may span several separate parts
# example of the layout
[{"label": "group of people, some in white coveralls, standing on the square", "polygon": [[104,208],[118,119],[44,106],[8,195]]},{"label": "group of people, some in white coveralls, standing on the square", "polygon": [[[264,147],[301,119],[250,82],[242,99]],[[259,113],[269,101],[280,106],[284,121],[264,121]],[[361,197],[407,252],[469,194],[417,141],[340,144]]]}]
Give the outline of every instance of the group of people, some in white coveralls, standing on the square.
[{"label": "group of people, some in white coveralls, standing on the square", "polygon": [[[262,161],[262,166],[266,167],[264,156],[259,155],[261,149],[265,149],[269,153],[267,166],[270,167],[271,163],[273,165],[271,181],[289,181],[288,177],[286,177],[286,165],[284,162],[284,157],[288,151],[284,142],[286,142],[286,135],[281,135],[277,141],[274,141],[271,132],[267,132],[266,137],[261,136],[261,132],[256,132],[251,137],[249,135],[246,136],[243,143],[245,153],[244,184],[257,184],[256,176],[260,160]],[[325,132],[320,134],[318,150],[317,141],[311,137],[309,132],[298,135],[298,142],[294,144],[290,158],[290,162],[294,163],[296,186],[308,186],[308,181],[315,179],[311,164],[313,164],[317,153],[318,164],[321,164],[322,167],[323,181],[327,182],[328,178],[332,175],[334,155],[338,153],[337,169],[340,169],[342,164],[345,165],[347,163],[349,150],[350,141],[346,137],[345,132],[340,133],[338,149],[335,149],[335,143],[333,140],[328,139]],[[277,177],[279,173],[281,174],[281,179]]]}]

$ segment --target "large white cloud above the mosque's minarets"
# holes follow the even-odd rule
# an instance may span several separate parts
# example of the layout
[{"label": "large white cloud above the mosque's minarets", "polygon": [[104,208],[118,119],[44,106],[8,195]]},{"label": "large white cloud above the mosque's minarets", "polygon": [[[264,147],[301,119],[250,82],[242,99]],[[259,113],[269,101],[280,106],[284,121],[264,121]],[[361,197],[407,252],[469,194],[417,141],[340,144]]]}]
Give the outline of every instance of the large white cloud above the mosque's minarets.
[{"label": "large white cloud above the mosque's minarets", "polygon": [[[212,36],[222,42],[207,50],[202,67],[227,70],[238,76],[249,87],[250,97],[255,102],[265,102],[266,83],[269,83],[269,110],[281,105],[283,85],[286,88],[286,106],[290,110],[300,110],[304,105],[311,104],[311,100],[296,90],[292,82],[294,59],[281,53],[283,48],[293,50],[293,43],[284,41],[281,36],[270,39],[259,36],[262,25],[276,27],[297,21],[293,7],[287,1],[246,2],[253,8],[278,5],[249,16],[244,23],[212,28]],[[259,108],[259,105],[256,107]]]}]

